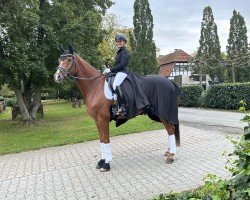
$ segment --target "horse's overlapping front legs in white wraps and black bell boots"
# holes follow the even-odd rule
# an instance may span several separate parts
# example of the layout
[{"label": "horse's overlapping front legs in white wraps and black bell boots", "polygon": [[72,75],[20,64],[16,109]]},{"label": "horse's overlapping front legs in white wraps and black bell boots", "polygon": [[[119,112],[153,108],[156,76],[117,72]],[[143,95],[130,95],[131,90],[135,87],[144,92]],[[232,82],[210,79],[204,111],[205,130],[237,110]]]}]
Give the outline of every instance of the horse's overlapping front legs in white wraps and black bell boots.
[{"label": "horse's overlapping front legs in white wraps and black bell boots", "polygon": [[100,143],[102,150],[102,159],[97,163],[97,169],[101,172],[110,170],[110,162],[112,160],[111,145],[109,140],[109,120],[101,118],[98,120]]}]

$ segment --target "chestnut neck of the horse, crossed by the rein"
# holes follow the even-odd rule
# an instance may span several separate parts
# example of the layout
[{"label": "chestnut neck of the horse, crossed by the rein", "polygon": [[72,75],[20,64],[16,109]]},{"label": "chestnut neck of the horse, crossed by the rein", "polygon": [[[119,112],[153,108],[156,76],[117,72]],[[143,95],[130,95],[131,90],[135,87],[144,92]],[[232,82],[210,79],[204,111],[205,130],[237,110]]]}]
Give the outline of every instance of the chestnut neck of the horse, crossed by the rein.
[{"label": "chestnut neck of the horse, crossed by the rein", "polygon": [[87,78],[87,80],[76,79],[76,83],[83,94],[84,99],[88,99],[93,96],[93,92],[97,91],[98,88],[103,84],[104,79],[99,77],[88,80],[89,78],[98,76],[100,72],[79,56],[76,56],[76,63],[77,76],[80,78]]}]

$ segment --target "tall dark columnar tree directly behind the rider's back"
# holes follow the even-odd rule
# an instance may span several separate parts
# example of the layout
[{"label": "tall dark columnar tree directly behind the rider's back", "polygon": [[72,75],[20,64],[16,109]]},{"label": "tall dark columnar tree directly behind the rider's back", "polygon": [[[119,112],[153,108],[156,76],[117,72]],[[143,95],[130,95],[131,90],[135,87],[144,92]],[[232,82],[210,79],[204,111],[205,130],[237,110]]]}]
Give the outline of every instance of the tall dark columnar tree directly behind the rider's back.
[{"label": "tall dark columnar tree directly behind the rider's back", "polygon": [[134,31],[130,33],[131,71],[146,75],[157,73],[156,46],[153,41],[153,16],[148,0],[135,0]]}]

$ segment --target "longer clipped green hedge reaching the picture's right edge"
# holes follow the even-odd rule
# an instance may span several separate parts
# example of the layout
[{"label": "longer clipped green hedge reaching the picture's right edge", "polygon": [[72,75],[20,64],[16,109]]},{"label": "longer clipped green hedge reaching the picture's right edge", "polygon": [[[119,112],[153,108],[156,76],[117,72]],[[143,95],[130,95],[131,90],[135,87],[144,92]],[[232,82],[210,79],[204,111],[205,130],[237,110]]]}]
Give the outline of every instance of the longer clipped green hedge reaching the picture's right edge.
[{"label": "longer clipped green hedge reaching the picture's right edge", "polygon": [[250,108],[250,83],[218,84],[211,86],[205,97],[204,105],[208,108],[238,109],[239,101],[247,103]]}]

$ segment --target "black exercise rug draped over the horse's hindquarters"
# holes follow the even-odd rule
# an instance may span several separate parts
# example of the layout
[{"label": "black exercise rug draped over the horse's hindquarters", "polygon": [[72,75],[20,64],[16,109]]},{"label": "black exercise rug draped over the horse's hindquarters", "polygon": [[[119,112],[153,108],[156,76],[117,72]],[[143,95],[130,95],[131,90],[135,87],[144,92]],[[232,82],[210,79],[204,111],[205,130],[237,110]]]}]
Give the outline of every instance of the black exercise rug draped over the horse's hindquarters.
[{"label": "black exercise rug draped over the horse's hindquarters", "polygon": [[137,76],[128,73],[121,85],[123,95],[128,104],[127,119],[116,119],[116,126],[135,117],[143,110],[150,119],[160,122],[163,118],[174,124],[178,123],[179,87],[169,79],[157,76]]}]

